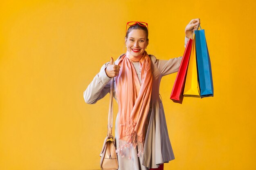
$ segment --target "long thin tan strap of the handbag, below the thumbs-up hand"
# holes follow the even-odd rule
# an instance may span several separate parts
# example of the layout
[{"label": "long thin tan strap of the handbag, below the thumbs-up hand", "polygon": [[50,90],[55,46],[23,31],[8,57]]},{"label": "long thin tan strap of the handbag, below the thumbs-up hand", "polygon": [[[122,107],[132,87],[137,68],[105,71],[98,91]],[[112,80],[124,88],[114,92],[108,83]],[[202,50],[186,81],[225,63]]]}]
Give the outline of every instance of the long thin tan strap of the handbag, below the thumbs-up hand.
[{"label": "long thin tan strap of the handbag, below the thumbs-up hand", "polygon": [[108,109],[108,136],[112,136],[113,128],[113,91],[114,91],[114,78],[111,79],[110,84],[110,100],[109,100],[109,109]]}]

